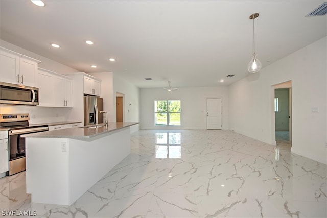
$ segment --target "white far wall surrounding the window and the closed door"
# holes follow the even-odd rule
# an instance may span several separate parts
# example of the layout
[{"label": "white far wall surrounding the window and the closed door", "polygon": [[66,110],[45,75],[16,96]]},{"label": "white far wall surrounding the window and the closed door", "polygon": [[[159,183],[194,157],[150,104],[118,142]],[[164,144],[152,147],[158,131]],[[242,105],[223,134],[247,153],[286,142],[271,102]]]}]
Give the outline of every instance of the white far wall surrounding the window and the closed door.
[{"label": "white far wall surrounding the window and the closed door", "polygon": [[227,87],[193,87],[167,91],[162,88],[141,89],[141,129],[163,129],[154,125],[155,100],[181,101],[181,126],[169,129],[206,129],[206,98],[222,98],[222,128],[228,129]]}]

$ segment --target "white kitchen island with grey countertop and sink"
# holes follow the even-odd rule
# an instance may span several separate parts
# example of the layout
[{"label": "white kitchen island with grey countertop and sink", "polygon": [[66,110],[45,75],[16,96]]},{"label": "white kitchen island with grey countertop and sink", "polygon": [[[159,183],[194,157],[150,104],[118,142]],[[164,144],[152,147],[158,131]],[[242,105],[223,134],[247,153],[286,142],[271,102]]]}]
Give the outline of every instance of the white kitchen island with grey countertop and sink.
[{"label": "white kitchen island with grey countertop and sink", "polygon": [[130,153],[130,126],[109,123],[24,135],[33,203],[71,205]]}]

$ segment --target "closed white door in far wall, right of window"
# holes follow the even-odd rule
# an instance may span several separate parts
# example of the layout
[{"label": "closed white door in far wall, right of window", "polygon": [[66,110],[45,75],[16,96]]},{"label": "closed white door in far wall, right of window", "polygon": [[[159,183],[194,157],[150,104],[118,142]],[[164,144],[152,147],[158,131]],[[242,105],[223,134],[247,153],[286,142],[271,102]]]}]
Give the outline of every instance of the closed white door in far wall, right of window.
[{"label": "closed white door in far wall, right of window", "polygon": [[222,128],[221,98],[206,99],[206,128]]}]

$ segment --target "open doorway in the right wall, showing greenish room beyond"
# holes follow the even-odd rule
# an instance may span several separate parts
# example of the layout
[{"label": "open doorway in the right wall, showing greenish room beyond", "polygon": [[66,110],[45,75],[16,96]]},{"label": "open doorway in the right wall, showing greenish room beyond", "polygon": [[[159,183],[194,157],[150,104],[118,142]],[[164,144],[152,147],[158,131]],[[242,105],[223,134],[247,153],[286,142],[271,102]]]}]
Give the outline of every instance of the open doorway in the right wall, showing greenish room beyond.
[{"label": "open doorway in the right wall, showing greenish room beyond", "polygon": [[274,86],[275,138],[279,145],[292,146],[292,82]]}]

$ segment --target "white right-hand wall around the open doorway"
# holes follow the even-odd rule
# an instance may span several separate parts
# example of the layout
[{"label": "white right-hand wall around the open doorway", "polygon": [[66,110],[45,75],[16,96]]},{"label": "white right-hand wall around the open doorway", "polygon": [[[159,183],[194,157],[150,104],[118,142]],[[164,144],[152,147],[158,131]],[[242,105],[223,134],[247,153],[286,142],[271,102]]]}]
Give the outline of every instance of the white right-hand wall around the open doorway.
[{"label": "white right-hand wall around the open doorway", "polygon": [[[274,144],[273,85],[292,81],[292,152],[327,164],[326,40],[324,37],[233,83],[229,128]],[[312,108],[318,112],[312,112]]]}]

